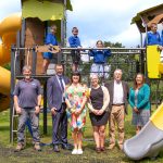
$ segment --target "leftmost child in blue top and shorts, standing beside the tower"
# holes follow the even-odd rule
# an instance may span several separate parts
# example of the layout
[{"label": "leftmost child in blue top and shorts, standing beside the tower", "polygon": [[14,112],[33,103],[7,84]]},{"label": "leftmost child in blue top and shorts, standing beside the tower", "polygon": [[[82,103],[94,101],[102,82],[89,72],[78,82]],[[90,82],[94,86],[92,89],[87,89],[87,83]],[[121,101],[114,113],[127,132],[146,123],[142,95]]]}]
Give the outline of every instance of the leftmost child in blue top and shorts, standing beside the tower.
[{"label": "leftmost child in blue top and shorts, standing beside the tower", "polygon": [[[50,27],[50,33],[46,36],[46,41],[45,45],[50,45],[50,46],[58,46],[58,40],[55,37],[57,33],[57,26],[52,25]],[[51,52],[43,52],[43,65],[42,65],[42,74],[47,73],[50,60],[52,59],[52,53]]]}]

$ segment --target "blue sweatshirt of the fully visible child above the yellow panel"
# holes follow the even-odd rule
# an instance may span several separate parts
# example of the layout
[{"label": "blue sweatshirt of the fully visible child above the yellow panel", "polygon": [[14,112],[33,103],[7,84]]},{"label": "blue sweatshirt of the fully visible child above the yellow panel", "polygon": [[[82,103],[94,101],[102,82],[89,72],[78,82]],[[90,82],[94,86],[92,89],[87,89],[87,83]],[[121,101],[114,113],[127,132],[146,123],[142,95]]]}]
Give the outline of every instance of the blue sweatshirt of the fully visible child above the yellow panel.
[{"label": "blue sweatshirt of the fully visible child above the yellow panel", "polygon": [[[146,40],[147,39],[147,40]],[[147,38],[145,39],[145,47],[153,46],[153,45],[162,45],[160,34],[156,32],[155,34],[152,32],[149,32],[147,34]]]}]

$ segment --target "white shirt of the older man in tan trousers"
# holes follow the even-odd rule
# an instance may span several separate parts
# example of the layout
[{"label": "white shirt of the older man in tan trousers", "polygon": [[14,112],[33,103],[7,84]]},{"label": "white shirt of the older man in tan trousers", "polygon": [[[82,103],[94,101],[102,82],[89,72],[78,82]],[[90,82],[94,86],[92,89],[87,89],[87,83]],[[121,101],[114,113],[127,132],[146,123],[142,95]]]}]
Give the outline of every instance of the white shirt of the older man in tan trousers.
[{"label": "white shirt of the older man in tan trousers", "polygon": [[122,82],[114,80],[113,104],[124,103],[124,91]]}]

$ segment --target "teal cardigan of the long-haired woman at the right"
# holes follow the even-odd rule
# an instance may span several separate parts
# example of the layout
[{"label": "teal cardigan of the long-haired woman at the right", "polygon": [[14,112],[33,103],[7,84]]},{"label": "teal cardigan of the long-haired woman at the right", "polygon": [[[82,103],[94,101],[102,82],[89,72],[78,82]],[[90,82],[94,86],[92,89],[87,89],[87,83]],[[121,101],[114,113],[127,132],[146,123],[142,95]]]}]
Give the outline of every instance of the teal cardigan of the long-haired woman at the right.
[{"label": "teal cardigan of the long-haired woman at the right", "polygon": [[133,109],[136,106],[138,110],[150,110],[150,87],[147,84],[143,84],[142,87],[139,88],[137,95],[137,104],[135,103],[135,89],[130,88],[129,104]]}]

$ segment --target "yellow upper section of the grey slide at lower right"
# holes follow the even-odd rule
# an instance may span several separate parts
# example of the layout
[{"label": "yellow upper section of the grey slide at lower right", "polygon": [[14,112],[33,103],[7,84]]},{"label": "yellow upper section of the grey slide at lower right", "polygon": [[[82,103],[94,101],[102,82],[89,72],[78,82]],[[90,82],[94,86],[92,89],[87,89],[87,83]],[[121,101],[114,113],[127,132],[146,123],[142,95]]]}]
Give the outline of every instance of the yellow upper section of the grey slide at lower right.
[{"label": "yellow upper section of the grey slide at lower right", "polygon": [[163,130],[163,103],[153,113],[153,115],[150,117],[150,121],[156,128]]}]

